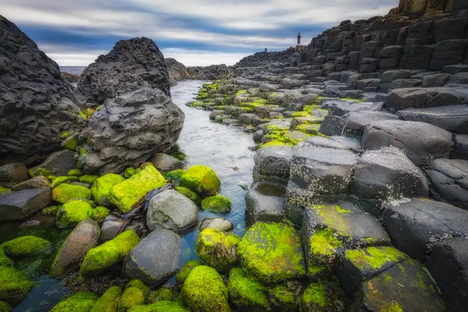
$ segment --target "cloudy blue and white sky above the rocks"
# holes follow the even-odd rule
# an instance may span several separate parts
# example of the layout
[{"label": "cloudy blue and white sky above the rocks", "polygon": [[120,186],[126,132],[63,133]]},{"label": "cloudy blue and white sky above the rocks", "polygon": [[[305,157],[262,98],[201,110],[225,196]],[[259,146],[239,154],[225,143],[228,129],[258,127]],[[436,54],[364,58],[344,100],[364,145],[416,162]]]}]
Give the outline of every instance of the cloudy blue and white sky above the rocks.
[{"label": "cloudy blue and white sky above the rocks", "polygon": [[60,66],[86,66],[145,36],[186,66],[233,65],[302,44],[340,21],[386,15],[398,0],[0,0],[0,14]]}]

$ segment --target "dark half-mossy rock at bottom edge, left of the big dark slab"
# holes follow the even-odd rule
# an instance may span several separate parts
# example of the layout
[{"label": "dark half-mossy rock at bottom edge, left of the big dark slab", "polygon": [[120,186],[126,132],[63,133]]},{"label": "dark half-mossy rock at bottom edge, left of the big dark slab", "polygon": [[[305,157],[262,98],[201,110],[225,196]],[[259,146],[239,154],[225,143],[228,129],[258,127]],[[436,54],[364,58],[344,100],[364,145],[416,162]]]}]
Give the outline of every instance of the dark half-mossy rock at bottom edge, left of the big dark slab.
[{"label": "dark half-mossy rock at bottom edge, left of the big dark slab", "polygon": [[345,312],[348,311],[346,301],[345,291],[333,277],[308,285],[302,294],[301,307],[303,312]]}]

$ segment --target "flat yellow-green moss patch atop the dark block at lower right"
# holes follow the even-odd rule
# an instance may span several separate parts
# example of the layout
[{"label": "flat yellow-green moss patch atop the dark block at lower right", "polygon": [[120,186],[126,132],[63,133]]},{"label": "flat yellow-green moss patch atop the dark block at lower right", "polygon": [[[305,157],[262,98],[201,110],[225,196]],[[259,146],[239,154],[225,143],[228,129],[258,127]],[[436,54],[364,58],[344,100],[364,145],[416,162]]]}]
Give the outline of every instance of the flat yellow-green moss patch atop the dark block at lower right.
[{"label": "flat yellow-green moss patch atop the dark block at lower right", "polygon": [[380,269],[385,264],[401,262],[406,255],[394,247],[367,247],[360,250],[346,250],[345,257],[360,269]]}]

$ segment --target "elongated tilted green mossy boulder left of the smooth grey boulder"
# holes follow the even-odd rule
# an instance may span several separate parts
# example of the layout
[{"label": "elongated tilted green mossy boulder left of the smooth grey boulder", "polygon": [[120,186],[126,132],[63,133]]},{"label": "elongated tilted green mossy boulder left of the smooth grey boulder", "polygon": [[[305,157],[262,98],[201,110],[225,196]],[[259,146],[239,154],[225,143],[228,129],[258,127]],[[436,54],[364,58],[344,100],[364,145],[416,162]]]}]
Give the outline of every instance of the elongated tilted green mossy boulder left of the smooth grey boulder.
[{"label": "elongated tilted green mossy boulder left of the smooth grey boulder", "polygon": [[113,240],[89,250],[79,272],[84,277],[99,274],[124,260],[128,252],[138,243],[140,243],[138,235],[133,230],[126,230]]}]

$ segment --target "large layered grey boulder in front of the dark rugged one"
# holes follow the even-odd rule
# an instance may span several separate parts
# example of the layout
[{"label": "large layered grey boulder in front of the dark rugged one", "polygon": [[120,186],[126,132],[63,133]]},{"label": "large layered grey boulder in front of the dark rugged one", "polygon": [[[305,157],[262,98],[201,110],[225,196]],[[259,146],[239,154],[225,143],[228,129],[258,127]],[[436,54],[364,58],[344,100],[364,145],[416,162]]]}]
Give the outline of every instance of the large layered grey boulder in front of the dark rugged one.
[{"label": "large layered grey boulder in front of the dark rugged one", "polygon": [[179,138],[184,113],[149,87],[108,99],[79,135],[79,163],[87,172],[119,173],[138,167]]}]

